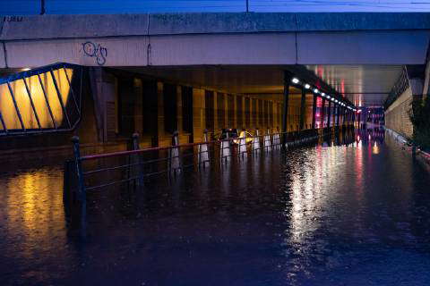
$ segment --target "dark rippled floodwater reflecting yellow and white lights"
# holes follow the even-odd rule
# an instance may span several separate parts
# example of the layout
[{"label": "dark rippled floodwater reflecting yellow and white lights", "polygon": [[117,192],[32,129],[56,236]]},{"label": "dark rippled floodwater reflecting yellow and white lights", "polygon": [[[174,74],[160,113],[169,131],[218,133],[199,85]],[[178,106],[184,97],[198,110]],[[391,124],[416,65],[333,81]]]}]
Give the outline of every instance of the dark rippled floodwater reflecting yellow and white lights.
[{"label": "dark rippled floodwater reflecting yellow and white lights", "polygon": [[0,177],[0,285],[429,285],[430,176],[388,135],[89,196],[61,167]]}]

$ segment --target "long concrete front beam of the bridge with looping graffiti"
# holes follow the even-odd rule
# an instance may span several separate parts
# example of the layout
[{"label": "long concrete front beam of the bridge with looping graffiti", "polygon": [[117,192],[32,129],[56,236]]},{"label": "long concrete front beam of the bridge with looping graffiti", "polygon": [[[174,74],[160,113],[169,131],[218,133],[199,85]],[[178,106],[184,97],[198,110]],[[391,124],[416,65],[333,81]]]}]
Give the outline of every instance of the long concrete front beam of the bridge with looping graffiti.
[{"label": "long concrete front beam of the bridge with looping graffiti", "polygon": [[[0,67],[56,62],[424,64],[426,13],[177,13],[5,18]],[[84,44],[90,42],[92,44]],[[92,46],[94,45],[94,46]]]}]

